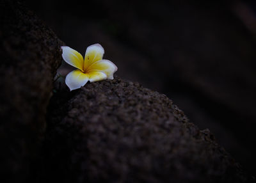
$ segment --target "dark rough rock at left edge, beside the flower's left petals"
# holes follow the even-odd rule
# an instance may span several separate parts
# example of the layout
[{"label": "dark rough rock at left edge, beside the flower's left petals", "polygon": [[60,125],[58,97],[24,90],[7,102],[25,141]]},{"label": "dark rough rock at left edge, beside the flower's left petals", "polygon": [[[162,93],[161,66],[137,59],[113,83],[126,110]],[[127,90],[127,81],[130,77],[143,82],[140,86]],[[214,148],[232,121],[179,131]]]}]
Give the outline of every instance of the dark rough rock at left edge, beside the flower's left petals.
[{"label": "dark rough rock at left edge, beside the flower's left petals", "polygon": [[17,1],[0,2],[0,25],[0,182],[23,182],[33,177],[63,43]]}]

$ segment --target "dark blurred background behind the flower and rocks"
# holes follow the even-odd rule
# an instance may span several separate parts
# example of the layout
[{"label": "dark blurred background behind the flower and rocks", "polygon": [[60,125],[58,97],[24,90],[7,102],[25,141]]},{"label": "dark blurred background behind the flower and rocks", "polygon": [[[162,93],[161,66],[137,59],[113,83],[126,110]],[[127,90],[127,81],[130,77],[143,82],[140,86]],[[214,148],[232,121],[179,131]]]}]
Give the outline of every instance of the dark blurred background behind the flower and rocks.
[{"label": "dark blurred background behind the flower and rocks", "polygon": [[24,0],[82,55],[101,44],[117,76],[167,95],[255,175],[256,1],[138,2]]}]

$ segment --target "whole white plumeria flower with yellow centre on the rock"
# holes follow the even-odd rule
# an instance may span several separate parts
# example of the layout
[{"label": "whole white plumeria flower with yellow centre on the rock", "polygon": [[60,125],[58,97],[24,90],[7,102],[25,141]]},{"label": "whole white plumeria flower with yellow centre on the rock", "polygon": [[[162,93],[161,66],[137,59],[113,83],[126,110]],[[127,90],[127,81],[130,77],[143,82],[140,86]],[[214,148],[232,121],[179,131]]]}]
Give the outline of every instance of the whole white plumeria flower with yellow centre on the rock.
[{"label": "whole white plumeria flower with yellow centre on the rock", "polygon": [[81,88],[88,81],[95,82],[104,79],[114,79],[117,67],[109,60],[102,60],[104,49],[100,44],[87,47],[83,56],[68,46],[62,46],[62,57],[68,64],[78,68],[70,72],[65,83],[70,91]]}]

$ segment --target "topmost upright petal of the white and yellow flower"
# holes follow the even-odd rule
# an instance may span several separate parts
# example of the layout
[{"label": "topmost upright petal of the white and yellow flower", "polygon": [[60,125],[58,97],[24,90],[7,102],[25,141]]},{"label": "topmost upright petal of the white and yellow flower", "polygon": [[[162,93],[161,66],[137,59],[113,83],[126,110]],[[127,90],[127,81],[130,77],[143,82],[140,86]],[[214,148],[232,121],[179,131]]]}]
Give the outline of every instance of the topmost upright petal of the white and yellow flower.
[{"label": "topmost upright petal of the white and yellow flower", "polygon": [[104,49],[100,44],[94,44],[87,47],[84,56],[84,70],[95,61],[102,60]]}]

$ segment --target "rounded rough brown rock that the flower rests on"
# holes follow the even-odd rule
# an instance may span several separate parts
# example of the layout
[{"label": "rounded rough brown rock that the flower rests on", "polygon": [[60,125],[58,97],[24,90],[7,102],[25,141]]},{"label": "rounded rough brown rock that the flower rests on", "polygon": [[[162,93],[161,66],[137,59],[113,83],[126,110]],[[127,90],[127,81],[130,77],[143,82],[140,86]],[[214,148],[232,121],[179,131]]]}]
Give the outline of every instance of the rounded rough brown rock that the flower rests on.
[{"label": "rounded rough brown rock that the flower rests on", "polygon": [[52,97],[44,154],[60,182],[246,182],[209,130],[118,77]]}]

